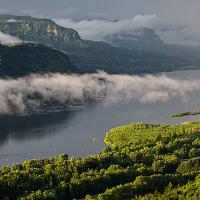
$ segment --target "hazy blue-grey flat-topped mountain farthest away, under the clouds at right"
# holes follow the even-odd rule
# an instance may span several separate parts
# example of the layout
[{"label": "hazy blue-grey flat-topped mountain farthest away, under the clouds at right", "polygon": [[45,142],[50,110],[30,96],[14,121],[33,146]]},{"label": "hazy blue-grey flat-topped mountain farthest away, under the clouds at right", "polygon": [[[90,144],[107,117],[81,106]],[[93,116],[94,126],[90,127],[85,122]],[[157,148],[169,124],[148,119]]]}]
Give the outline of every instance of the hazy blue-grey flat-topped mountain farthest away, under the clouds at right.
[{"label": "hazy blue-grey flat-topped mountain farthest away, under the clouds at right", "polygon": [[165,44],[155,30],[150,28],[107,35],[105,40],[117,47],[161,53],[187,60],[191,65],[200,65],[200,47]]}]

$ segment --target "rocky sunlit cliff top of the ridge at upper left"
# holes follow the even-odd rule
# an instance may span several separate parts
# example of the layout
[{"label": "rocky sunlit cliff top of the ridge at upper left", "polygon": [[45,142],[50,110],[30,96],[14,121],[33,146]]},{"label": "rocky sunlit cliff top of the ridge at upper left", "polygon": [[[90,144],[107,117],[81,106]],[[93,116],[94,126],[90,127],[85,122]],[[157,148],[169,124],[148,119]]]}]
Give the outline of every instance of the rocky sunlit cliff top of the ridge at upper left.
[{"label": "rocky sunlit cliff top of the ridge at upper left", "polygon": [[61,27],[49,19],[1,15],[0,31],[22,40],[42,43],[59,49],[86,46],[75,30]]}]

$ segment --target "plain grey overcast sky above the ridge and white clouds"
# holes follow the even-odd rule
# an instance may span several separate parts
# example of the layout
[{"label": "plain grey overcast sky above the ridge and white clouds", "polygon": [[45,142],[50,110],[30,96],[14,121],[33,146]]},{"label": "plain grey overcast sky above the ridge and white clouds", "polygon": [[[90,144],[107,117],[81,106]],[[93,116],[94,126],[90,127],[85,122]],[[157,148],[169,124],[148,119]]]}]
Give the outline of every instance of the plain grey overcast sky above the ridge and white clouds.
[{"label": "plain grey overcast sky above the ridge and white clouds", "polygon": [[129,18],[157,14],[162,18],[199,21],[199,0],[0,0],[1,11],[52,17]]}]

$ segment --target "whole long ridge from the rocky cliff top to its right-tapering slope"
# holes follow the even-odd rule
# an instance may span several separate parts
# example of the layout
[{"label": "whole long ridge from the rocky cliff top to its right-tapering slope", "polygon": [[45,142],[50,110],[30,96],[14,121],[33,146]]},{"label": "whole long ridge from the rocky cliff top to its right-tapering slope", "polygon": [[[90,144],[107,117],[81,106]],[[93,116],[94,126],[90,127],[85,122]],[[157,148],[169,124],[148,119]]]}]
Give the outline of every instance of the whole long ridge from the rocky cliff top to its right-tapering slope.
[{"label": "whole long ridge from the rocky cliff top to its right-tapering slope", "polygon": [[184,59],[143,49],[114,47],[104,42],[85,41],[72,29],[49,19],[30,16],[0,16],[0,31],[21,40],[41,43],[65,51],[82,72],[153,73],[183,69]]}]

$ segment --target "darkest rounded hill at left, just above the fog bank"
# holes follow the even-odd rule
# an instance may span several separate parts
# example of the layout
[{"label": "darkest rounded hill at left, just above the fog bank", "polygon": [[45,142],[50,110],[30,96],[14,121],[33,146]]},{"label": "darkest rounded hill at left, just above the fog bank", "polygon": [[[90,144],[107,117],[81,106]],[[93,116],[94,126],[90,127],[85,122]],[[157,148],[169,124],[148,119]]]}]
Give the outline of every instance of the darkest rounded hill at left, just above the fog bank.
[{"label": "darkest rounded hill at left, just above the fog bank", "polygon": [[30,73],[79,72],[64,53],[40,44],[0,44],[0,77]]}]

